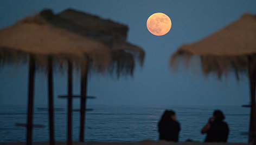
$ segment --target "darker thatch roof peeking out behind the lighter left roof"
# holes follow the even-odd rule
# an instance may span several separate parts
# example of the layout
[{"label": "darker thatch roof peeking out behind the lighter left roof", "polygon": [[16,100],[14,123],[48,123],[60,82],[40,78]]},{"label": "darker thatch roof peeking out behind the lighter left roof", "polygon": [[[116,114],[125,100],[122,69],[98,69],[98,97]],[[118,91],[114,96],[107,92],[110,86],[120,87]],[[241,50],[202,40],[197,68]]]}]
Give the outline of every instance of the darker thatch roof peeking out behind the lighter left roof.
[{"label": "darker thatch roof peeking out behind the lighter left roof", "polygon": [[[73,9],[62,11],[56,16],[59,17],[58,19],[64,18],[65,21],[69,20],[72,25],[76,25],[75,30],[68,25],[59,25],[59,27],[106,44],[110,48],[113,58],[110,68],[116,68],[116,72],[132,74],[136,60],[140,65],[143,64],[145,52],[142,48],[126,41],[128,31],[126,25]],[[110,70],[113,71],[113,69]]]}]

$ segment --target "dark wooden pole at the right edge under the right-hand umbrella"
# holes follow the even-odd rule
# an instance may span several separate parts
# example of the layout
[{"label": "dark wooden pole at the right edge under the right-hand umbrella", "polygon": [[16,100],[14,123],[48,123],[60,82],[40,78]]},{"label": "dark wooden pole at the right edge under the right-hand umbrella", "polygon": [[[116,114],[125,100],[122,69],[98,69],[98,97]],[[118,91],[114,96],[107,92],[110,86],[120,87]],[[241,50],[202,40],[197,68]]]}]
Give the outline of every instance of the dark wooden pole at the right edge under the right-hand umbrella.
[{"label": "dark wooden pole at the right edge under the right-hand umbrella", "polygon": [[250,124],[249,124],[249,136],[248,142],[255,145],[256,139],[256,111],[255,111],[255,79],[256,79],[256,70],[255,62],[252,59],[248,59],[248,75],[249,75],[249,84],[251,90],[251,115],[250,115]]}]

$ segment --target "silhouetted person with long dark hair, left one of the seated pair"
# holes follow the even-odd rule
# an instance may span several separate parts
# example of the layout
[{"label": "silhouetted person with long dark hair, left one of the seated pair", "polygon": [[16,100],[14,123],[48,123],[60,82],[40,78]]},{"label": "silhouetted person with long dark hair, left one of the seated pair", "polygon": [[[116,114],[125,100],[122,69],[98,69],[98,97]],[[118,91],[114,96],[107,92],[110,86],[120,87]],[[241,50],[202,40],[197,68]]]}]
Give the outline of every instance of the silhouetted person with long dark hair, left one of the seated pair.
[{"label": "silhouetted person with long dark hair, left one of the seated pair", "polygon": [[158,122],[159,140],[178,142],[180,130],[180,123],[176,121],[175,112],[165,110],[161,120]]}]

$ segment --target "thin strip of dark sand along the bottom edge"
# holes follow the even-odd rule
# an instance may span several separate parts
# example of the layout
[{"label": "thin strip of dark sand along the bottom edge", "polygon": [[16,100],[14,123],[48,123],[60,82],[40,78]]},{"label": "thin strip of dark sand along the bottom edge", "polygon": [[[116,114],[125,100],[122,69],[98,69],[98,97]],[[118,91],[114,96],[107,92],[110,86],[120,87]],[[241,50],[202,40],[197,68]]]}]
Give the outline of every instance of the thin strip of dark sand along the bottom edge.
[{"label": "thin strip of dark sand along the bottom edge", "polygon": [[[17,143],[0,143],[0,145],[22,145],[25,144],[25,142],[17,142]],[[48,144],[48,142],[35,142],[33,144],[36,145],[45,145]],[[56,145],[62,145],[66,144],[66,142],[56,142]],[[208,145],[215,145],[215,144],[228,144],[228,145],[246,145],[249,143],[203,143],[203,142],[166,142],[166,141],[152,141],[152,140],[143,140],[139,142],[86,142],[86,143],[81,143],[81,142],[73,142],[74,145],[79,145],[79,144],[88,144],[88,145],[94,145],[94,144],[99,144],[99,145],[119,145],[119,144],[137,144],[137,145],[154,145],[154,144],[160,144],[160,145],[165,145],[165,144],[173,144],[173,145],[203,145],[203,144],[208,144]]]}]

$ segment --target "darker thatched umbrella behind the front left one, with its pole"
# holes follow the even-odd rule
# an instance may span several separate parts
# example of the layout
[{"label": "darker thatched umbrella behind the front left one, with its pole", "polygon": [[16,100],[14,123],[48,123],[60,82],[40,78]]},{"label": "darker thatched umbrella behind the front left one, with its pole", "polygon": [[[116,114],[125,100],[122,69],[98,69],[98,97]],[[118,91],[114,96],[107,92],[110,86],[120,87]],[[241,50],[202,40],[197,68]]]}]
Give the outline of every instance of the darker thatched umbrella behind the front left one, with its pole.
[{"label": "darker thatched umbrella behind the front left one, with its pole", "polygon": [[[74,32],[81,36],[90,37],[96,41],[104,43],[108,50],[110,50],[112,62],[108,69],[113,72],[116,69],[116,73],[119,75],[132,75],[135,68],[135,60],[138,60],[139,64],[143,64],[145,52],[142,48],[137,47],[129,42],[126,42],[128,27],[126,25],[110,21],[109,19],[103,19],[98,16],[86,14],[72,9],[67,9],[60,12],[60,14],[54,15],[52,11],[46,10],[41,12],[46,17],[47,21],[55,25],[56,27],[63,28],[65,30]],[[87,71],[85,71],[85,77],[81,84],[81,94],[85,94],[87,86]],[[84,122],[85,122],[85,108],[86,98],[81,95],[81,117],[80,117],[80,141],[84,142]]]}]

